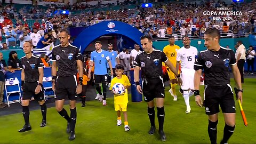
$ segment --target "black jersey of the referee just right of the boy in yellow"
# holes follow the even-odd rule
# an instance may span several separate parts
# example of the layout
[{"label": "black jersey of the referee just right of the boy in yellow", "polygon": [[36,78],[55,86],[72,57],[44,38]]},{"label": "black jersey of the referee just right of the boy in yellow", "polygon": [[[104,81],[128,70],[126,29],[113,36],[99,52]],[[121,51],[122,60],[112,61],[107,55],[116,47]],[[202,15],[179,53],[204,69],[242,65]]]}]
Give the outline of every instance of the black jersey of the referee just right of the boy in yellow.
[{"label": "black jersey of the referee just right of the boy in yellow", "polygon": [[160,50],[153,50],[150,54],[141,52],[135,58],[133,65],[141,67],[141,76],[147,79],[163,76],[162,62],[166,62],[168,58],[165,53]]}]

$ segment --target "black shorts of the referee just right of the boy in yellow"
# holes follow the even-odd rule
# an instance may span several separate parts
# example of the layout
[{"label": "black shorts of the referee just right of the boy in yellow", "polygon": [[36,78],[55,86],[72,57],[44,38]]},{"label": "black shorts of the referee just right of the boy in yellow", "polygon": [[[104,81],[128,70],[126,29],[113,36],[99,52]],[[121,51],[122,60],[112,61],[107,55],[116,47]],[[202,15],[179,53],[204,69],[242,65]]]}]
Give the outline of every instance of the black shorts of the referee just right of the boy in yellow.
[{"label": "black shorts of the referee just right of the boy in yellow", "polygon": [[154,98],[164,98],[163,78],[143,79],[142,92],[146,102],[154,100]]}]

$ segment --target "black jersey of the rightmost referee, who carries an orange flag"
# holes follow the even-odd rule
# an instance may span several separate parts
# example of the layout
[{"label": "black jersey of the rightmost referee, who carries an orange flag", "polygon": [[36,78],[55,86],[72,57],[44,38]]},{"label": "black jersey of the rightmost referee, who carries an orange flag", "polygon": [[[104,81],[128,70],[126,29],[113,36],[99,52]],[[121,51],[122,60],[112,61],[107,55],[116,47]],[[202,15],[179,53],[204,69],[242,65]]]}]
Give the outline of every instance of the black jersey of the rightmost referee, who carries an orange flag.
[{"label": "black jersey of the rightmost referee, who carries an orange flag", "polygon": [[220,47],[219,51],[201,51],[196,56],[194,69],[204,69],[205,85],[223,86],[230,83],[229,65],[235,64],[233,50]]}]

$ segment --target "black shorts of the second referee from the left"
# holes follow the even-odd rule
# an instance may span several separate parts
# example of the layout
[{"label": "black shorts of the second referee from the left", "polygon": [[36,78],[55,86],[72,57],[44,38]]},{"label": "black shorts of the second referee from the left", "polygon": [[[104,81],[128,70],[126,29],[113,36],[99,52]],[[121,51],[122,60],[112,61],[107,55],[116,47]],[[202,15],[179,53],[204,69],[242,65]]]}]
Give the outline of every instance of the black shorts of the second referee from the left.
[{"label": "black shorts of the second referee from the left", "polygon": [[68,96],[69,100],[76,100],[76,76],[60,77],[58,76],[55,83],[55,100],[62,100]]}]

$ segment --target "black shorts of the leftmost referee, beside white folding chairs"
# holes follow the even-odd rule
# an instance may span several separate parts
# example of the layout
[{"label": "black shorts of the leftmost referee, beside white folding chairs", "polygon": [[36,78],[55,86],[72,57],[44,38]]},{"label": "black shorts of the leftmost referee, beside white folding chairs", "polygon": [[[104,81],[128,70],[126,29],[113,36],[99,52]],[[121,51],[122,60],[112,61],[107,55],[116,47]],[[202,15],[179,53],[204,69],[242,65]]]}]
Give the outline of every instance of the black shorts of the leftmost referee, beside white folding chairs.
[{"label": "black shorts of the leftmost referee, beside white folding chairs", "polygon": [[38,82],[25,82],[22,86],[23,92],[22,92],[22,99],[23,100],[30,100],[32,97],[34,97],[37,101],[44,100],[44,87],[42,87],[41,91],[38,94],[35,94],[36,87],[38,85]]}]

